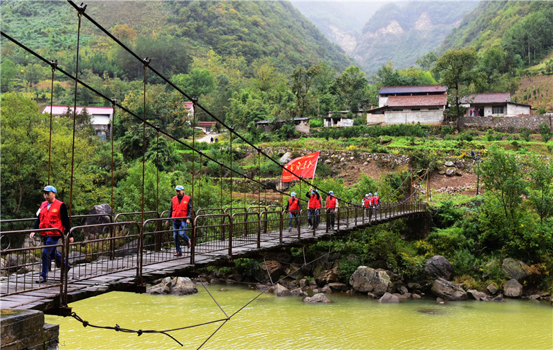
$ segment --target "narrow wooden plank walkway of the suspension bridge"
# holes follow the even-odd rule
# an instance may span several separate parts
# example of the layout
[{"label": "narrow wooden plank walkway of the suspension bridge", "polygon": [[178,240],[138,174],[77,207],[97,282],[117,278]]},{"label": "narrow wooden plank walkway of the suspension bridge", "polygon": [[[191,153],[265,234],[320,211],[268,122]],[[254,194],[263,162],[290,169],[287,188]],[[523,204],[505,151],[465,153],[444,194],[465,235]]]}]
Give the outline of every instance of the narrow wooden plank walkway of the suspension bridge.
[{"label": "narrow wooden plank walkway of the suspension bridge", "polygon": [[[340,222],[339,230],[329,229],[326,232],[324,223],[321,223],[319,229],[315,231],[308,226],[301,226],[300,234],[298,237],[297,229],[283,231],[282,243],[279,235],[280,231],[273,231],[266,234],[267,238],[257,242],[257,235],[243,235],[238,238],[233,238],[232,258],[243,257],[248,254],[255,253],[256,251],[263,251],[272,249],[277,246],[286,246],[290,244],[297,244],[299,242],[306,242],[308,240],[318,240],[321,237],[331,237],[333,235],[340,235],[351,229],[359,229],[362,226],[368,226],[371,224],[379,224],[388,220],[395,219],[397,217],[404,217],[413,214],[420,214],[420,211],[406,211],[404,213],[388,213],[382,215],[379,219],[371,220],[370,222],[365,219],[362,223],[361,218],[357,220],[342,220]],[[288,221],[288,218],[286,218]],[[355,224],[357,222],[357,225]],[[254,237],[255,236],[255,237]],[[241,242],[237,242],[241,241]],[[228,240],[223,240],[222,244],[218,246],[228,246]],[[211,242],[196,244],[194,263],[191,264],[191,251],[185,248],[182,257],[174,257],[171,247],[162,249],[162,251],[142,251],[144,255],[142,257],[142,282],[147,283],[159,278],[165,278],[169,275],[187,275],[194,272],[194,269],[200,267],[216,264],[217,262],[227,262],[229,260],[227,249],[218,249],[209,251]],[[85,298],[90,298],[94,295],[100,295],[109,291],[132,291],[137,286],[137,264],[139,257],[137,254],[126,257],[116,257],[114,260],[120,260],[117,262],[111,262],[109,266],[105,266],[102,260],[95,262],[88,262],[82,264],[74,264],[72,269],[68,271],[67,282],[67,303],[75,302]],[[131,264],[129,264],[131,262]],[[116,269],[113,268],[116,266]],[[113,270],[113,271],[111,271]],[[82,272],[84,271],[84,272]],[[90,271],[97,271],[96,276],[91,275]],[[39,271],[29,271],[28,273],[13,273],[8,277],[9,283],[6,283],[6,278],[0,286],[1,307],[3,309],[37,309],[41,311],[48,311],[57,309],[60,305],[64,304],[64,301],[60,300],[62,295],[62,284],[59,273],[61,269],[54,269],[50,271],[48,275],[48,282],[41,284],[37,289],[35,280],[39,278]],[[87,277],[79,279],[79,273],[84,273]],[[15,293],[15,291],[21,291]],[[10,294],[14,293],[14,294]],[[10,294],[10,295],[6,295]]]}]

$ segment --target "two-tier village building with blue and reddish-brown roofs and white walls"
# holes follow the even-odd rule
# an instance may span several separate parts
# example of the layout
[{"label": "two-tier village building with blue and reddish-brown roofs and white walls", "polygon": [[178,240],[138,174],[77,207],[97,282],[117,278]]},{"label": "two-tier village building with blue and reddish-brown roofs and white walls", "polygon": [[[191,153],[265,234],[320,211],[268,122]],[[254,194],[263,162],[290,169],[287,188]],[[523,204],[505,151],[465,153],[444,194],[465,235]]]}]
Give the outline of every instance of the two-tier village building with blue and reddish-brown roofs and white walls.
[{"label": "two-tier village building with blue and reddish-brown roofs and white walls", "polygon": [[441,124],[447,108],[447,86],[384,86],[378,108],[367,111],[367,124]]}]

